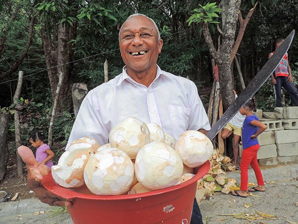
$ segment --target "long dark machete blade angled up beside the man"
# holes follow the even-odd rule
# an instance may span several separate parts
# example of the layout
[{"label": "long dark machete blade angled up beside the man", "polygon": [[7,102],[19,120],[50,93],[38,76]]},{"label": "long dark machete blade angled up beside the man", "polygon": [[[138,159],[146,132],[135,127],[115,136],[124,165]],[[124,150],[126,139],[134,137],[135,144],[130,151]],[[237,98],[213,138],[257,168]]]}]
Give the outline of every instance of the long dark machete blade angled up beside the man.
[{"label": "long dark machete blade angled up beside the man", "polygon": [[251,80],[243,92],[238,96],[233,104],[224,112],[221,118],[207,132],[207,137],[212,140],[227,122],[249,101],[249,99],[261,88],[272,72],[276,69],[279,62],[289,50],[293,41],[295,30],[293,30],[281,46],[274,52],[273,56],[266,62],[257,75]]}]

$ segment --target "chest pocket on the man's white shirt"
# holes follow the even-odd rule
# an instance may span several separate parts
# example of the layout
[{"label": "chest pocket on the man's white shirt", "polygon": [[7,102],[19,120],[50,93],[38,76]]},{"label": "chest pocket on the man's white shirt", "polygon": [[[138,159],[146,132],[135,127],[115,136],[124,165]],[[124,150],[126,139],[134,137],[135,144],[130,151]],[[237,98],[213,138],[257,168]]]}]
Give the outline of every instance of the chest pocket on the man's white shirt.
[{"label": "chest pocket on the man's white shirt", "polygon": [[171,120],[171,127],[174,134],[174,137],[177,139],[180,134],[188,128],[188,120],[190,109],[181,107],[181,106],[168,106],[170,120]]}]

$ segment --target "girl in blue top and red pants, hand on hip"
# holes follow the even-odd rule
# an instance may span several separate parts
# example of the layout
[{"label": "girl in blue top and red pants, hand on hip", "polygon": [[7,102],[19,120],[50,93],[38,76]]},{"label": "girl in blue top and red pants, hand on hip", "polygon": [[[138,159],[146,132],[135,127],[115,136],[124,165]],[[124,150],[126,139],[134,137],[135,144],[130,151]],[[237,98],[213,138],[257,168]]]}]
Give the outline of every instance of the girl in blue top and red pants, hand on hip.
[{"label": "girl in blue top and red pants, hand on hip", "polygon": [[252,98],[248,101],[248,103],[240,109],[240,113],[245,115],[245,119],[242,126],[242,157],[240,163],[240,171],[241,171],[241,186],[240,190],[232,191],[231,194],[233,196],[240,196],[246,198],[248,196],[247,193],[247,182],[248,182],[248,174],[247,170],[249,165],[253,168],[258,186],[249,189],[249,191],[265,191],[264,181],[262,172],[260,170],[257,153],[260,148],[257,136],[261,134],[264,130],[266,130],[266,124],[263,124],[259,121],[258,117],[252,113],[252,111],[256,111],[256,102],[255,99]]}]

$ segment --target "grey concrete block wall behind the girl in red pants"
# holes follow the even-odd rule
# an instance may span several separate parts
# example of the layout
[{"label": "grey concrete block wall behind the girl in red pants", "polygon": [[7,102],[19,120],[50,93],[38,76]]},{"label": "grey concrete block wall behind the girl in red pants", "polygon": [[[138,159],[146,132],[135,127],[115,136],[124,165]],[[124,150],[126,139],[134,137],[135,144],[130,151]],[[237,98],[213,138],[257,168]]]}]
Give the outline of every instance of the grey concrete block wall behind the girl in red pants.
[{"label": "grey concrete block wall behind the girl in red pants", "polygon": [[[263,113],[268,118],[260,119],[267,125],[266,131],[258,136],[260,165],[298,163],[298,107],[275,108],[274,114]],[[242,146],[239,148],[241,158]]]}]

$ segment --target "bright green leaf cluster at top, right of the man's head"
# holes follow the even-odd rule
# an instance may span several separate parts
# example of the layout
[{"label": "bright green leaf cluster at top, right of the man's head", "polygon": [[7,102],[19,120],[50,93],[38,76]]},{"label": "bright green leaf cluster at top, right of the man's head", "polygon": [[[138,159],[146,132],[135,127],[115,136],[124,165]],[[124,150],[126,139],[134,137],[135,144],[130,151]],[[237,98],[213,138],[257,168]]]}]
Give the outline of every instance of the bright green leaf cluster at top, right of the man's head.
[{"label": "bright green leaf cluster at top, right of the man's head", "polygon": [[207,3],[205,6],[199,4],[200,8],[195,8],[193,14],[187,19],[188,25],[196,23],[220,23],[217,18],[223,9],[219,8],[216,2]]}]

